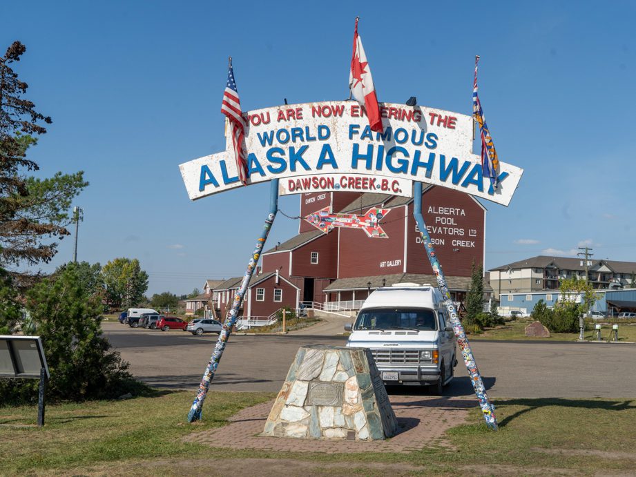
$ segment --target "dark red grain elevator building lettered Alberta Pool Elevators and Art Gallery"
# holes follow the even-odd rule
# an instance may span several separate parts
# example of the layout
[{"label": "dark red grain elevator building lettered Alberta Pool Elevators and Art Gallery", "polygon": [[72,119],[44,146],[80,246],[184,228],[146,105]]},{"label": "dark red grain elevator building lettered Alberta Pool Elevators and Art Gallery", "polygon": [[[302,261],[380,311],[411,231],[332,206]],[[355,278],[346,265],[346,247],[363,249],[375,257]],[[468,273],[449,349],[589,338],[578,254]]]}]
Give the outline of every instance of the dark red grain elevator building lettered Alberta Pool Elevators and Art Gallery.
[{"label": "dark red grain elevator building lettered Alberta Pool Elevators and Art Gallery", "polygon": [[[471,195],[430,186],[423,191],[423,216],[456,302],[470,286],[472,263],[483,265],[485,208]],[[418,228],[413,199],[375,193],[300,195],[300,215],[329,206],[334,213],[365,213],[388,208],[380,220],[386,238],[335,228],[325,234],[300,221],[298,235],[262,253],[258,275],[250,281],[240,315],[267,318],[300,302],[337,303],[356,309],[369,291],[398,282],[435,284]],[[242,278],[215,287],[215,315],[226,315]],[[492,289],[484,283],[486,293]]]}]

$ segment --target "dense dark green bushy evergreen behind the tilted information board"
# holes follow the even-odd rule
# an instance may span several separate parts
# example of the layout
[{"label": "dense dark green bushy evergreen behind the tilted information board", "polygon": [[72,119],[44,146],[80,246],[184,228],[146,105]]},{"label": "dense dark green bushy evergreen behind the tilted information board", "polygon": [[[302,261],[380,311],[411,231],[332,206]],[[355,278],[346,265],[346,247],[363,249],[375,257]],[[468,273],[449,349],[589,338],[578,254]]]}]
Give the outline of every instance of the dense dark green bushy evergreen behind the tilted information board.
[{"label": "dense dark green bushy evergreen behind the tilted information board", "polygon": [[[26,308],[37,326],[50,371],[48,398],[117,398],[143,387],[126,371],[128,363],[102,336],[102,299],[86,287],[80,266],[70,263],[27,293]],[[37,382],[1,380],[6,402],[37,400]]]}]

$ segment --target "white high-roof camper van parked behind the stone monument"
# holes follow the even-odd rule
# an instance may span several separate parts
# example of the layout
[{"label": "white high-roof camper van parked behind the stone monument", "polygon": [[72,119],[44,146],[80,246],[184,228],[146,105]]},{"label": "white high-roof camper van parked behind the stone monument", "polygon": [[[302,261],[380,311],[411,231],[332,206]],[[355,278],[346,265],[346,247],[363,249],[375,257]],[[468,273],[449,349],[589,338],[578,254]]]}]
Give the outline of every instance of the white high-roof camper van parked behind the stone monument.
[{"label": "white high-roof camper van parked behind the stone monument", "polygon": [[441,394],[453,378],[455,336],[442,295],[430,284],[377,289],[347,328],[347,346],[369,348],[385,384],[432,385]]}]

